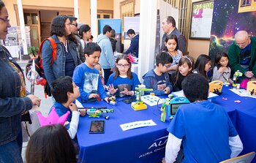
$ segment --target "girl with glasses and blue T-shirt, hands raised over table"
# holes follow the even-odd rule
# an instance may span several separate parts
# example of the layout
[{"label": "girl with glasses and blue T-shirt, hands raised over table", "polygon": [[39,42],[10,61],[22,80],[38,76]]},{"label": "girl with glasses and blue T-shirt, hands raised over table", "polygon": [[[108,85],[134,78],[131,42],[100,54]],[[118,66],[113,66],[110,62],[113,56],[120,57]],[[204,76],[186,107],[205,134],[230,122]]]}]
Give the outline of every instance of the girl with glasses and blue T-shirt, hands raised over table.
[{"label": "girl with glasses and blue T-shirt, hands raised over table", "polygon": [[116,96],[133,96],[135,87],[140,84],[135,72],[131,72],[131,58],[126,54],[118,56],[116,59],[116,72],[108,78],[107,86],[110,94]]}]

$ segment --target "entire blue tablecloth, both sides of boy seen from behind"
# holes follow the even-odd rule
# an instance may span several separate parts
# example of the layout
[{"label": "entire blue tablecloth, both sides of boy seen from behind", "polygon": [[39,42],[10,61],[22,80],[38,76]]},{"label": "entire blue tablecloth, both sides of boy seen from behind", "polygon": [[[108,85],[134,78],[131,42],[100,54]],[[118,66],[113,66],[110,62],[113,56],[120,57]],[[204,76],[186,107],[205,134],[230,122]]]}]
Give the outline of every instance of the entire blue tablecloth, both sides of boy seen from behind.
[{"label": "entire blue tablecloth, both sides of boy seen from behind", "polygon": [[[227,100],[222,99],[223,97]],[[236,100],[240,100],[241,103],[234,102]],[[241,154],[256,151],[256,99],[238,96],[224,86],[222,95],[211,101],[224,107],[236,126],[244,144],[244,151]],[[104,118],[89,118],[87,115],[80,117],[77,134],[80,146],[79,162],[161,162],[165,155],[168,134],[166,128],[170,121],[167,120],[165,123],[160,121],[157,106],[148,106],[147,110],[135,111],[130,105],[121,101],[116,106],[106,102],[83,105],[85,107],[108,107],[115,111],[108,113],[110,119],[105,120],[105,134],[89,134],[91,121],[104,120]],[[152,119],[157,126],[131,129],[125,132],[119,126],[132,121],[149,119]],[[253,162],[256,163],[256,159]]]}]

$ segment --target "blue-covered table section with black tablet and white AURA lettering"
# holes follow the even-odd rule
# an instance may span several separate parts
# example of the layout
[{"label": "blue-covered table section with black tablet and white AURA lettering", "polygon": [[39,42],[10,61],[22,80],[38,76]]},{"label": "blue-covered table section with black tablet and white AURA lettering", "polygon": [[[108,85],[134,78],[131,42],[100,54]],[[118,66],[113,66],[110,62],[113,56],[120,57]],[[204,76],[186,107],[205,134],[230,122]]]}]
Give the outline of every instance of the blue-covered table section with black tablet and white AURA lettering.
[{"label": "blue-covered table section with black tablet and white AURA lettering", "polygon": [[[160,121],[160,111],[157,106],[147,110],[135,111],[130,105],[118,99],[116,106],[106,102],[83,104],[85,107],[113,108],[114,113],[108,113],[105,120],[105,134],[89,134],[92,120],[104,118],[80,117],[78,126],[78,144],[80,146],[79,162],[161,162],[165,156],[165,144],[168,132],[166,128],[170,121]],[[147,126],[139,129],[122,131],[120,124],[132,121],[152,119],[157,126]]]}]

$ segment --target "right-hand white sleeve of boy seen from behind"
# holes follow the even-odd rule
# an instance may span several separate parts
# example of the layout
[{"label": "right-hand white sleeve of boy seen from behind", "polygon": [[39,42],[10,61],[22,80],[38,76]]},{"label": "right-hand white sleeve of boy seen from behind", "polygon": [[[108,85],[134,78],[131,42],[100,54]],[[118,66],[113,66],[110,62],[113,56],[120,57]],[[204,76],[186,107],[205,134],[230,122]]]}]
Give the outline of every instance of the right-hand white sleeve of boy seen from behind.
[{"label": "right-hand white sleeve of boy seen from behind", "polygon": [[231,158],[238,156],[241,151],[243,151],[243,143],[241,142],[241,139],[239,135],[236,135],[235,137],[228,137],[230,149],[231,149]]}]

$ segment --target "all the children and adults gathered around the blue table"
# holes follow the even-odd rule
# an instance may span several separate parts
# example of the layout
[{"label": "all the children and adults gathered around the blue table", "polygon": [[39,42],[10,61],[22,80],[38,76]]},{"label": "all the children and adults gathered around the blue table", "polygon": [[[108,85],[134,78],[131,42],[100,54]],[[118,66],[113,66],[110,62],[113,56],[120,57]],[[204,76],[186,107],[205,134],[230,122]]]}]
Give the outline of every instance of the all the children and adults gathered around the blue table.
[{"label": "all the children and adults gathered around the blue table", "polygon": [[[0,0],[0,39],[6,38],[10,26],[7,8]],[[81,103],[109,102],[112,96],[134,96],[135,87],[140,83],[152,88],[155,95],[183,90],[191,102],[179,107],[167,128],[169,135],[162,162],[178,161],[176,157],[181,143],[185,160],[192,162],[207,162],[209,159],[220,162],[238,156],[243,148],[240,137],[225,110],[207,101],[208,82],[230,82],[230,77],[238,70],[243,73],[241,80],[254,80],[255,37],[249,37],[246,31],[238,31],[228,54],[217,53],[213,73],[208,73],[211,58],[201,54],[195,61],[186,55],[187,40],[176,28],[173,17],[168,16],[162,21],[162,29],[165,32],[162,51],[155,58],[155,68],[143,75],[141,82],[131,71],[132,56],[139,57],[139,34],[134,30],[127,31],[132,39],[131,46],[115,60],[115,31],[111,26],[103,27],[95,43],[89,25],[78,29],[75,17],[59,15],[54,18],[50,37],[57,45],[57,55],[53,60],[53,48],[46,40],[42,45],[42,65],[56,113],[61,116],[70,111],[71,114],[64,126],[42,126],[31,136],[26,150],[27,162],[77,162],[75,134],[79,116],[85,115],[85,110],[78,110]],[[20,118],[33,105],[39,106],[40,99],[26,91],[22,69],[2,45],[0,69],[0,162],[23,162]],[[146,91],[146,94],[150,93]]]}]

